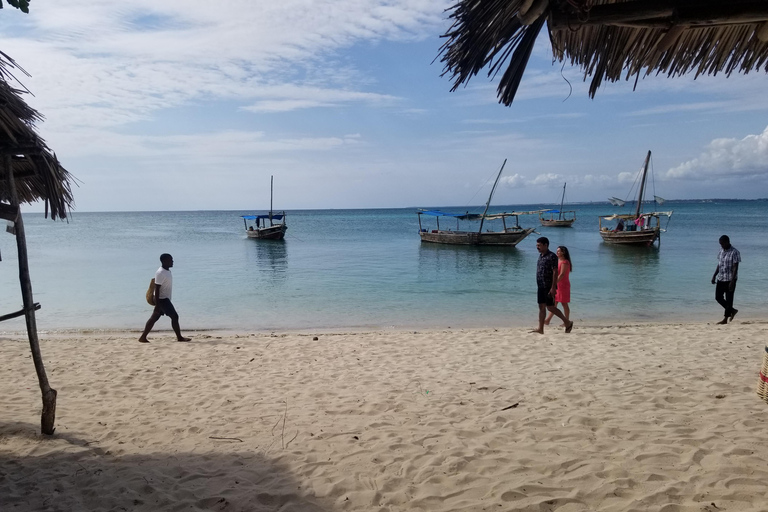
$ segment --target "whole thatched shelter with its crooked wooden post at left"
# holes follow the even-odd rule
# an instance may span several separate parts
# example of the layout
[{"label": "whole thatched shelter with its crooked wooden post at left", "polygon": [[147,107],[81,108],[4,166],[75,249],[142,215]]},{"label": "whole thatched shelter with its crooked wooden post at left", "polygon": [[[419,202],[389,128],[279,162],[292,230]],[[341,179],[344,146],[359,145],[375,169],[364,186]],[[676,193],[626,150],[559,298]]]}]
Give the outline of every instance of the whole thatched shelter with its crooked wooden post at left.
[{"label": "whole thatched shelter with its crooked wooden post at left", "polygon": [[[73,205],[72,176],[64,169],[34,129],[42,116],[21,98],[24,91],[13,88],[13,70],[25,73],[10,57],[0,52],[0,219],[8,221],[7,231],[15,235],[19,255],[19,282],[23,308],[0,316],[7,320],[17,316],[26,319],[27,334],[32,350],[43,398],[41,430],[53,434],[56,418],[56,390],[45,374],[40,343],[37,337],[35,311],[40,305],[32,295],[27,243],[21,203],[45,202],[45,216],[66,218]],[[18,83],[18,82],[16,82]]]}]

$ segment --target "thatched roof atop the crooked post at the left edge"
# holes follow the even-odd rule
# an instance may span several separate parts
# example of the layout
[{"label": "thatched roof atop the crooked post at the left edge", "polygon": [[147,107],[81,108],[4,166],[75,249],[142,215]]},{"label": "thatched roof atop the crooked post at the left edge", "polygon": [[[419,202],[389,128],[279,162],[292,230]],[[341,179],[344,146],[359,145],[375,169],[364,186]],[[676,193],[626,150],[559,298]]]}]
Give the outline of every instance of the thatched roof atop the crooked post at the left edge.
[{"label": "thatched roof atop the crooked post at the left edge", "polygon": [[[65,218],[74,204],[73,178],[56,159],[45,141],[35,132],[42,116],[21,98],[28,92],[13,88],[12,70],[25,73],[10,57],[0,52],[0,156],[11,155],[11,166],[19,202],[45,202],[46,216]],[[18,82],[17,82],[18,83]],[[5,171],[0,169],[0,201],[10,203]]]}]

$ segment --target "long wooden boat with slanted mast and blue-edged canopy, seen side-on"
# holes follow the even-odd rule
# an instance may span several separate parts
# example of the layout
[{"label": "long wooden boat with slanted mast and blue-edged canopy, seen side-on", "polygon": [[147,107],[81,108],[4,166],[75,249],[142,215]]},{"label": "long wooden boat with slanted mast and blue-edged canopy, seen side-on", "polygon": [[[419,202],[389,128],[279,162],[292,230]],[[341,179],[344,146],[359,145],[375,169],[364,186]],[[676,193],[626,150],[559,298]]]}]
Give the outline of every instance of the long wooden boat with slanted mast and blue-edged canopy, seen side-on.
[{"label": "long wooden boat with slanted mast and blue-edged canopy, seen side-on", "polygon": [[[488,202],[485,204],[485,211],[482,214],[477,213],[445,213],[439,210],[424,210],[420,209],[416,213],[419,216],[419,235],[422,242],[431,242],[437,244],[451,244],[451,245],[496,245],[514,247],[520,243],[525,237],[533,233],[533,228],[522,228],[518,222],[519,215],[537,214],[535,212],[504,212],[488,214],[488,207],[491,204],[493,193],[496,191],[496,185],[499,183],[499,178],[504,170],[507,160],[501,165],[496,181],[491,188],[491,194],[488,196]],[[421,216],[429,215],[436,218],[437,229],[427,230],[421,225]],[[448,217],[450,219],[456,219],[456,230],[452,229],[440,229],[440,218]],[[514,225],[508,226],[507,219],[514,219]],[[502,230],[491,231],[486,230],[483,232],[483,226],[486,221],[501,220]],[[459,229],[459,221],[480,221],[480,227],[477,231],[462,231]]]}]

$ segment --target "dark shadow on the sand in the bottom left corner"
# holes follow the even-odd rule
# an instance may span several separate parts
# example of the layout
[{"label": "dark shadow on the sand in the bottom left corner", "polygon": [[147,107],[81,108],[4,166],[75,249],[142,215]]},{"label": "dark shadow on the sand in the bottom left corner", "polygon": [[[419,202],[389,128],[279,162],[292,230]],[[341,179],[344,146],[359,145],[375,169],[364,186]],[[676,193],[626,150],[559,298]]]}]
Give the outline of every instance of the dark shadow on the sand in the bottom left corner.
[{"label": "dark shadow on the sand in the bottom left corner", "polygon": [[[259,453],[115,455],[72,434],[0,422],[0,509],[323,512],[285,467]],[[25,438],[29,455],[3,446]]]}]

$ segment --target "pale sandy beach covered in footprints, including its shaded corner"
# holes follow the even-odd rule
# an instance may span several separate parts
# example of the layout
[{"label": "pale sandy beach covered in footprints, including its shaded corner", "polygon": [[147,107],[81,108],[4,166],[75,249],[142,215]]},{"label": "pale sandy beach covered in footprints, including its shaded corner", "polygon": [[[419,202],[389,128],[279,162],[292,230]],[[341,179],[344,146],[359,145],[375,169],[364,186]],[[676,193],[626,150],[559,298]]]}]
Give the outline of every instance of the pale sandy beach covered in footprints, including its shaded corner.
[{"label": "pale sandy beach covered in footprints, including its shaded corner", "polygon": [[0,336],[0,509],[768,509],[768,323],[153,334],[41,335],[50,437]]}]

